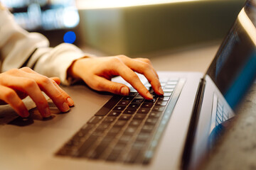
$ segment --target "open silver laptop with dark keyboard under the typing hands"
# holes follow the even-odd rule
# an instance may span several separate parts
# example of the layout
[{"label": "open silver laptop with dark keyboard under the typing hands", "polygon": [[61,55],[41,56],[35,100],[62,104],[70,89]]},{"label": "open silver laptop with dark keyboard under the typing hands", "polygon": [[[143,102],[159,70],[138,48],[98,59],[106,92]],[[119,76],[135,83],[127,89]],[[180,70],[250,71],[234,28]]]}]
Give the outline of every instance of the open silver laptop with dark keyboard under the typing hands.
[{"label": "open silver laptop with dark keyboard under the typing hands", "polygon": [[132,87],[129,96],[63,87],[70,113],[45,120],[33,108],[1,125],[1,169],[199,169],[255,80],[255,9],[247,1],[206,74],[159,72],[164,96],[144,77],[152,101]]}]

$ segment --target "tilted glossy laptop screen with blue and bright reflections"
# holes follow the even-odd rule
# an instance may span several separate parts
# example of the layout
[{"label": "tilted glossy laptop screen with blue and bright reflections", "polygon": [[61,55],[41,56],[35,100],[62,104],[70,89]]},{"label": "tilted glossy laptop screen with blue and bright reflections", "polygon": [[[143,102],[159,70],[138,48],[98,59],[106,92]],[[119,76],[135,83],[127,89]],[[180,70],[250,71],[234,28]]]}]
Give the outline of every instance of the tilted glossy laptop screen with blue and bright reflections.
[{"label": "tilted glossy laptop screen with blue and bright reflections", "polygon": [[256,77],[256,1],[247,1],[206,74],[235,109]]}]

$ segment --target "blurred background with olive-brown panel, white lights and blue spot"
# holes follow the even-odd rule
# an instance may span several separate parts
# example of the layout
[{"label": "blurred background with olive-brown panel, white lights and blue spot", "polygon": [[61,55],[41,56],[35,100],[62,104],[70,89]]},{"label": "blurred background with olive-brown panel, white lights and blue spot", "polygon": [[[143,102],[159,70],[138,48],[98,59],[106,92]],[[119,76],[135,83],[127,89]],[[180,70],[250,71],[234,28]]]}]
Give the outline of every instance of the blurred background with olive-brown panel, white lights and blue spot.
[{"label": "blurred background with olive-brown panel, white lights and blue spot", "polygon": [[220,41],[245,0],[0,0],[28,31],[107,55],[176,50]]}]

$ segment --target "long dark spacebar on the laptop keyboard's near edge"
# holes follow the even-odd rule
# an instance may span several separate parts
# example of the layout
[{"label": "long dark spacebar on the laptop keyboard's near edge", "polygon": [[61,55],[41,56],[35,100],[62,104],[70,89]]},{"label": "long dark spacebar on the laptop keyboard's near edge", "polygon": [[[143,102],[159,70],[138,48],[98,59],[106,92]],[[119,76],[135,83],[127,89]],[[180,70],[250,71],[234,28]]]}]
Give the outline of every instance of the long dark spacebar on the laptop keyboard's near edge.
[{"label": "long dark spacebar on the laptop keyboard's near edge", "polygon": [[107,115],[111,111],[111,109],[122,99],[122,96],[113,96],[110,101],[107,101],[102,108],[100,108],[100,111],[97,111],[95,115]]}]

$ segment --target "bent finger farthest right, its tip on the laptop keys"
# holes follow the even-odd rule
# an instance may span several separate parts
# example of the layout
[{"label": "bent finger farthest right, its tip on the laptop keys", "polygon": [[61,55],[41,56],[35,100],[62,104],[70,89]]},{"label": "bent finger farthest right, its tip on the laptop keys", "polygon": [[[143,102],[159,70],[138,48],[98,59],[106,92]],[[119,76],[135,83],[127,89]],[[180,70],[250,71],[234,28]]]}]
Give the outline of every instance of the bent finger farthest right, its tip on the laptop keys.
[{"label": "bent finger farthest right, its tip on the laptop keys", "polygon": [[158,95],[163,95],[164,91],[161,88],[161,84],[159,82],[158,77],[156,77],[156,74],[154,74],[154,71],[150,64],[147,64],[146,62],[141,62],[139,60],[132,60],[129,59],[125,62],[129,68],[134,70],[135,72],[138,72],[140,74],[144,74],[146,79],[151,84],[152,88]]}]

